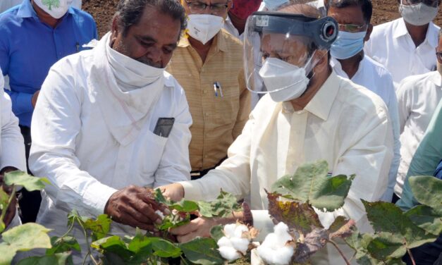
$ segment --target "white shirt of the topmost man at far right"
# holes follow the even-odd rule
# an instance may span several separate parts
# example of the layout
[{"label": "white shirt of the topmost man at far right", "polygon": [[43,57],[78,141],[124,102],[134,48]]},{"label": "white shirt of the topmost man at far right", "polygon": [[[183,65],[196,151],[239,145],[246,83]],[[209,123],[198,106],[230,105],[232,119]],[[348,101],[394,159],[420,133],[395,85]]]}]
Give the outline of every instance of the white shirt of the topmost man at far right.
[{"label": "white shirt of the topmost man at far right", "polygon": [[377,25],[364,51],[390,71],[395,88],[410,75],[436,70],[439,27],[430,22],[424,42],[415,46],[403,18]]}]

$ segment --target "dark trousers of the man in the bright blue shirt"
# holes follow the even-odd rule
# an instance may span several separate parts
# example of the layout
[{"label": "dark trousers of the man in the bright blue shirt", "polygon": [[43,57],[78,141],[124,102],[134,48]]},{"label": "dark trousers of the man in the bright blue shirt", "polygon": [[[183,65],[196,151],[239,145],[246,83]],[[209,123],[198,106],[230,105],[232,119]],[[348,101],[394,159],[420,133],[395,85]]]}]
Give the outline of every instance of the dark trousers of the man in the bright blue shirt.
[{"label": "dark trousers of the man in the bright blue shirt", "polygon": [[[31,130],[27,126],[20,125],[20,131],[23,135],[23,138],[25,139],[27,173],[32,175],[27,164],[27,159],[29,159],[29,152],[32,142]],[[18,206],[20,218],[23,223],[35,222],[41,202],[42,195],[40,194],[39,190],[36,190],[34,192],[28,192],[24,188],[20,190],[20,194],[18,195]]]}]

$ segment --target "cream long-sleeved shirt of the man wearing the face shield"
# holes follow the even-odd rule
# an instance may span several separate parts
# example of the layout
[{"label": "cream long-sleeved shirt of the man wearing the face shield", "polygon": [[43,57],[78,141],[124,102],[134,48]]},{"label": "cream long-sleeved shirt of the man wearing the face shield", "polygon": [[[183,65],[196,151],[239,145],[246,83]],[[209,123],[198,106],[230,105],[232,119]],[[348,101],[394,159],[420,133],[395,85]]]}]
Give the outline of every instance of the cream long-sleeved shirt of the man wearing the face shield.
[{"label": "cream long-sleeved shirt of the man wearing the face shield", "polygon": [[[254,226],[262,237],[273,231],[264,189],[306,162],[324,159],[333,175],[355,173],[343,208],[319,212],[324,226],[338,215],[350,216],[370,230],[360,199],[376,201],[386,190],[393,157],[388,111],[373,92],[331,73],[302,111],[290,102],[264,96],[250,114],[243,133],[228,149],[228,159],[204,178],[182,182],[187,199],[214,199],[222,188],[239,198],[250,195]],[[331,248],[313,264],[341,264]],[[351,250],[348,250],[351,252]],[[351,254],[350,256],[351,257]]]}]

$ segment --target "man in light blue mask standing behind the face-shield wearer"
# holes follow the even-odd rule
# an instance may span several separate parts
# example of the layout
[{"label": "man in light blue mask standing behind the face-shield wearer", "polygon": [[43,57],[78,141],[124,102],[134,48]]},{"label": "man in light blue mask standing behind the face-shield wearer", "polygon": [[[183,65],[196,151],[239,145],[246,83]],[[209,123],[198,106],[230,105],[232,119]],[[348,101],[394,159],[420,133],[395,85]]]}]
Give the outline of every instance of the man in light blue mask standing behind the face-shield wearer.
[{"label": "man in light blue mask standing behind the face-shield wearer", "polygon": [[391,74],[380,63],[364,55],[364,42],[372,33],[372,1],[330,0],[328,15],[339,25],[338,38],[331,45],[331,66],[343,78],[367,87],[383,99],[393,126],[395,156],[388,174],[388,189],[382,200],[391,202],[400,160],[398,100]]}]

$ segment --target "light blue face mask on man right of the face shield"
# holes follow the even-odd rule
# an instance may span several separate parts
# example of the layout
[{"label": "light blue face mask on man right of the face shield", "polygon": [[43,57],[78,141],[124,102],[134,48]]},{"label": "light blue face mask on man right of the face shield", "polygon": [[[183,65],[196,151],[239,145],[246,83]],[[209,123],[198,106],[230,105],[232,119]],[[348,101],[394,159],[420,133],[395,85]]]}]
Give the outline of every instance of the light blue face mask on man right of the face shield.
[{"label": "light blue face mask on man right of the face shield", "polygon": [[367,32],[340,31],[338,38],[331,44],[330,54],[334,58],[346,59],[364,49],[364,37]]}]

